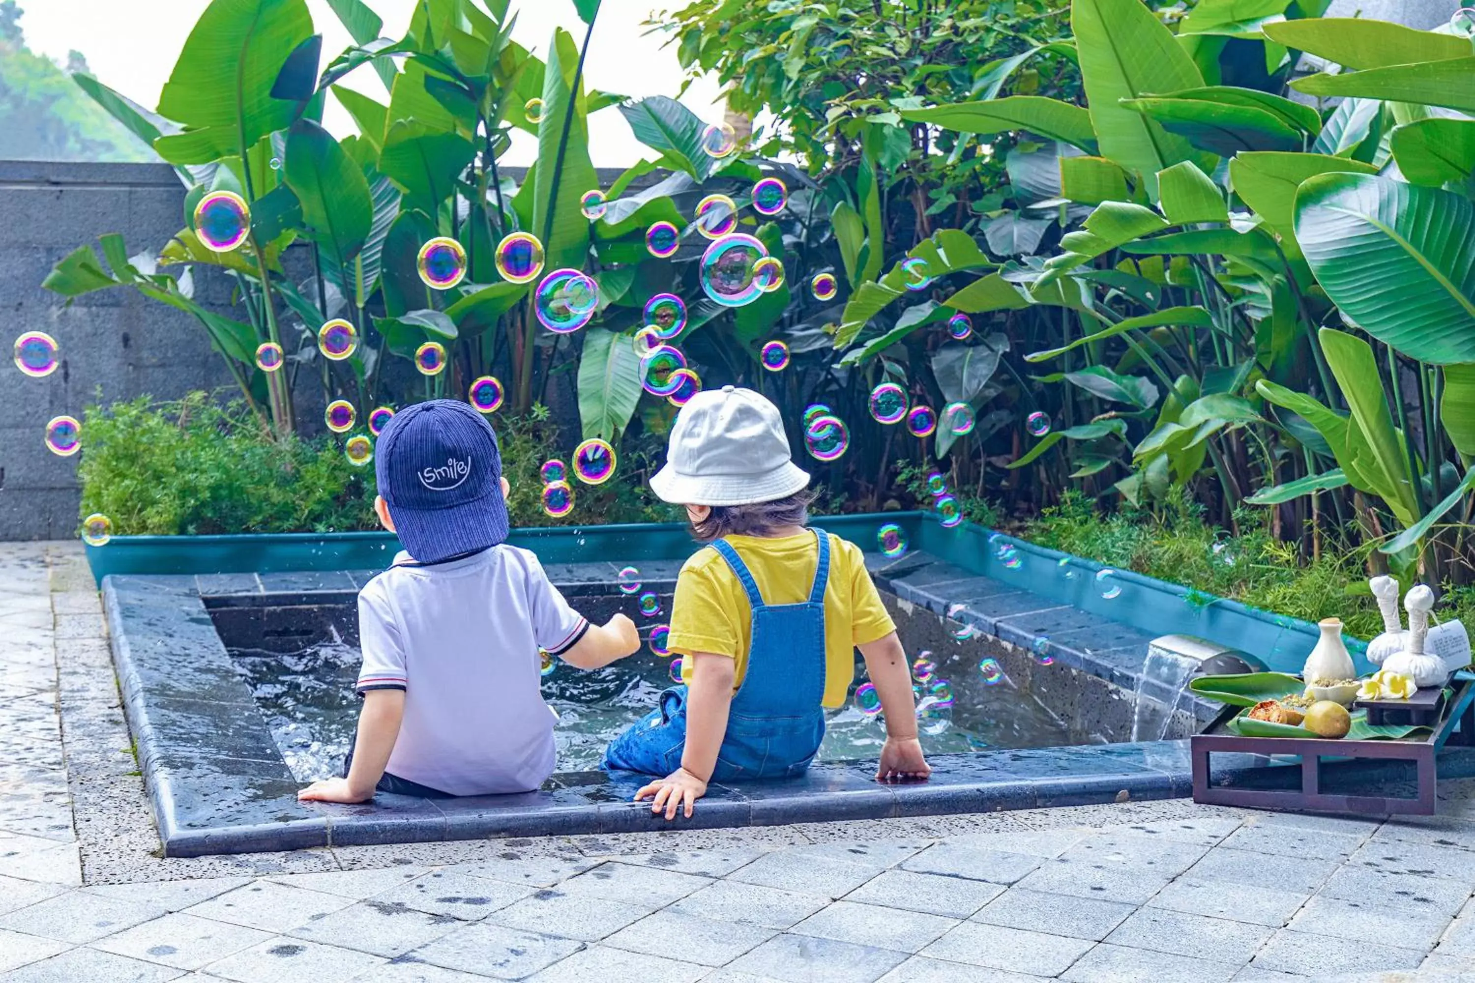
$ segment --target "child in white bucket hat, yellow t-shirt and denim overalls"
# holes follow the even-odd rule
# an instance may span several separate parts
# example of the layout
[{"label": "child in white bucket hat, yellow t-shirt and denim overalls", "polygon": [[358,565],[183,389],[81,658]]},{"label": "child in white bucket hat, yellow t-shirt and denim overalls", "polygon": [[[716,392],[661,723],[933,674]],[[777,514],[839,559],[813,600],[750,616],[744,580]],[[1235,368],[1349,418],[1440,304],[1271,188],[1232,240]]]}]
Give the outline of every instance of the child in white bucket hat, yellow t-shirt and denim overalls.
[{"label": "child in white bucket hat, yellow t-shirt and denim overalls", "polygon": [[686,506],[699,550],[676,581],[668,646],[683,684],[605,750],[605,768],[658,775],[636,793],[674,819],[709,781],[801,775],[845,703],[854,650],[881,696],[876,778],[931,774],[912,672],[858,547],[808,529],[810,476],[779,410],[751,389],[699,392],[671,427],[656,495]]}]

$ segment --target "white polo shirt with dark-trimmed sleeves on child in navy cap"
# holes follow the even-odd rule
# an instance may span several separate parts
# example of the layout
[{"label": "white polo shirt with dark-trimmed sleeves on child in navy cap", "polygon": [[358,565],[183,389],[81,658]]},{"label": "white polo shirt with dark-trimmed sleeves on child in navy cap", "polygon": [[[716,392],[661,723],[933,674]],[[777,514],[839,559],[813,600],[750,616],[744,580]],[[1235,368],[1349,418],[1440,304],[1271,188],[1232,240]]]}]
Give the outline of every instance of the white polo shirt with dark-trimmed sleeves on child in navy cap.
[{"label": "white polo shirt with dark-trimmed sleeves on child in navy cap", "polygon": [[386,771],[453,796],[537,788],[555,765],[538,648],[566,651],[589,622],[518,547],[394,562],[358,592],[358,691],[404,690]]}]

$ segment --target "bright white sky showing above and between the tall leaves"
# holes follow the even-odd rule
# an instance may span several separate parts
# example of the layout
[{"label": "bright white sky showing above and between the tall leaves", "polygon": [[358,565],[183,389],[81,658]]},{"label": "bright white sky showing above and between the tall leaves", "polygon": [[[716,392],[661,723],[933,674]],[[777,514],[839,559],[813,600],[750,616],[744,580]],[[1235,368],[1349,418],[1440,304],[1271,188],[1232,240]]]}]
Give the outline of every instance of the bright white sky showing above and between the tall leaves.
[{"label": "bright white sky showing above and between the tall leaves", "polygon": [[[168,81],[174,60],[208,0],[19,0],[25,16],[21,27],[32,52],[65,62],[68,50],[87,57],[93,74],[137,103],[158,105],[159,90]],[[403,37],[416,0],[367,0],[384,18],[386,37]],[[605,0],[594,27],[594,41],[584,63],[587,85],[624,96],[674,96],[683,74],[674,49],[664,49],[664,35],[645,35],[642,27],[661,0]],[[323,34],[323,63],[351,44],[326,0],[307,0],[313,22]],[[563,27],[580,41],[584,24],[571,0],[513,0],[518,25],[513,37],[540,56],[547,50],[553,29]],[[388,94],[372,68],[361,68],[347,84],[379,102]],[[721,119],[715,81],[699,80],[681,97],[696,115]],[[354,131],[353,121],[338,100],[329,97],[324,125],[336,136]],[[599,167],[625,167],[642,156],[642,144],[617,109],[603,109],[589,121],[590,153]],[[509,164],[527,164],[535,153],[531,137],[519,134],[509,152]],[[646,152],[646,156],[652,156]]]}]

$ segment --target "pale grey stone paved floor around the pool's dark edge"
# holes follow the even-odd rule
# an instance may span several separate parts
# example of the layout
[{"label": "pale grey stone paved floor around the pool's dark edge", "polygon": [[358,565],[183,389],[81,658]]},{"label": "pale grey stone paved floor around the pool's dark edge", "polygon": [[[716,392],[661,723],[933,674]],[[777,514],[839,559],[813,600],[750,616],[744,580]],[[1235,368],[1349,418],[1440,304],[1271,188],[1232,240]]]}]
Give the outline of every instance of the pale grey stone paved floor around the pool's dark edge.
[{"label": "pale grey stone paved floor around the pool's dark edge", "polygon": [[1475,781],[161,859],[72,544],[0,544],[0,980],[1475,980]]}]

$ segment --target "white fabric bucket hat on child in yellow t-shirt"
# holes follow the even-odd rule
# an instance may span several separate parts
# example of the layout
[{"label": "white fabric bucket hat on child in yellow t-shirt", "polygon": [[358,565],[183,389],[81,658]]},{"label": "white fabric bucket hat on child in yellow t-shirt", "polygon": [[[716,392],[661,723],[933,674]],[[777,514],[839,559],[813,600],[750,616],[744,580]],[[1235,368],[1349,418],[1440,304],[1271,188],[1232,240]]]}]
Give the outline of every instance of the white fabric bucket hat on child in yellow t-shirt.
[{"label": "white fabric bucket hat on child in yellow t-shirt", "polygon": [[671,427],[665,467],[650,488],[681,506],[751,506],[808,488],[810,475],[789,460],[779,407],[752,389],[699,392]]}]

